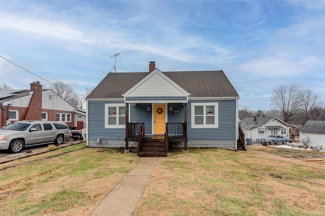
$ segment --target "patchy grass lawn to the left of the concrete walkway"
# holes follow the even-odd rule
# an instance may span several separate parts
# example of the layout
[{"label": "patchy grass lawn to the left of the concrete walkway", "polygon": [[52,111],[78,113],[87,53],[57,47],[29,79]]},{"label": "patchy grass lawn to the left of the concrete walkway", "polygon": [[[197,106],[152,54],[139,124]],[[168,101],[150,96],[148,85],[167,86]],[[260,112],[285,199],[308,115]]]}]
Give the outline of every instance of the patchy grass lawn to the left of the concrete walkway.
[{"label": "patchy grass lawn to the left of the concrete walkway", "polygon": [[83,147],[1,164],[0,215],[89,215],[140,161],[115,149]]}]

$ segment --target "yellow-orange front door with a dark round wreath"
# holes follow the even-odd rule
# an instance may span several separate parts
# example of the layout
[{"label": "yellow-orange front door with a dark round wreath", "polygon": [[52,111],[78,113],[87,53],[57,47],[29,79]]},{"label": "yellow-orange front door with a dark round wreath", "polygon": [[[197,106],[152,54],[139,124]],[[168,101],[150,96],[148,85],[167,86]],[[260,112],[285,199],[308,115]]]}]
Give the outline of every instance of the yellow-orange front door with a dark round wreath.
[{"label": "yellow-orange front door with a dark round wreath", "polygon": [[153,132],[154,134],[164,134],[166,123],[166,104],[153,105]]}]

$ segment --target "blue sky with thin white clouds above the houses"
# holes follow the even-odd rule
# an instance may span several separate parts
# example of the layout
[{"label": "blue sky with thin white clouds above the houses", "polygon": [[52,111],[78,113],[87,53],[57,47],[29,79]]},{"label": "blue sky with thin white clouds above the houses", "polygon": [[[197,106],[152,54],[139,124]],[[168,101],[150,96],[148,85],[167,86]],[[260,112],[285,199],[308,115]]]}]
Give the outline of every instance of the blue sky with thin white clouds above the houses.
[{"label": "blue sky with thin white clouds above the houses", "polygon": [[[325,101],[325,1],[0,0],[0,54],[76,93],[111,71],[223,70],[240,108],[270,110],[291,83]],[[0,82],[41,81],[0,58]],[[111,73],[114,73],[112,71]],[[199,84],[199,83],[198,83]]]}]

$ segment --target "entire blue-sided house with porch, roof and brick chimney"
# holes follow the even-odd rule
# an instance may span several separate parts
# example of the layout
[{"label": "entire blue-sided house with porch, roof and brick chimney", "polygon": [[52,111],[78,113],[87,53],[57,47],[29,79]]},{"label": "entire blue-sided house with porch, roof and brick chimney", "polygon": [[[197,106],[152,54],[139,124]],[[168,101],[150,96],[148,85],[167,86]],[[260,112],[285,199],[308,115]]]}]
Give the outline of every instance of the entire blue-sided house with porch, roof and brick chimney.
[{"label": "entire blue-sided house with porch, roof and brick chimney", "polygon": [[139,157],[168,148],[245,150],[239,95],[222,70],[109,73],[87,96],[88,147],[137,147]]}]

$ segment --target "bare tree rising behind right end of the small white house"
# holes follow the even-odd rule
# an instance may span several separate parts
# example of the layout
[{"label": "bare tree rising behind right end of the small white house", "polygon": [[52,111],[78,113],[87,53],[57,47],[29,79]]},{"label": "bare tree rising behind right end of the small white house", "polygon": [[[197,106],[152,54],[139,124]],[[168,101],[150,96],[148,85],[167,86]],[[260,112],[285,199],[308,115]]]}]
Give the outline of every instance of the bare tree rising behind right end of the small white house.
[{"label": "bare tree rising behind right end of the small white house", "polygon": [[301,87],[296,83],[273,89],[272,103],[280,111],[284,122],[290,122],[291,118],[299,112],[300,95]]}]

